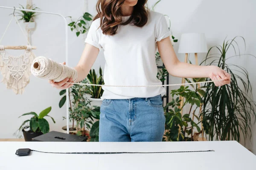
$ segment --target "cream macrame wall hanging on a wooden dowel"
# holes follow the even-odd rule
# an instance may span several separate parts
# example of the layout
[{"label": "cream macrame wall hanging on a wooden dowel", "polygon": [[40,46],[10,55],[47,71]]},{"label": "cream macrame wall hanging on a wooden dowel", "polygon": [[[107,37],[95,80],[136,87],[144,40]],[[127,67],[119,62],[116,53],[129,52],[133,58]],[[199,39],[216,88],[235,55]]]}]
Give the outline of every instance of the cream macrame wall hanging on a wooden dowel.
[{"label": "cream macrame wall hanging on a wooden dowel", "polygon": [[[20,27],[23,35],[26,38],[17,18],[15,15],[12,16],[8,26],[6,27],[3,36],[0,39],[0,43],[6,34],[7,29],[9,28],[13,18],[15,18],[17,25]],[[26,38],[27,40],[27,38]],[[35,55],[32,52],[32,49],[36,47],[29,45],[23,46],[3,46],[0,45],[0,72],[3,75],[2,82],[6,84],[6,88],[12,89],[15,94],[23,94],[26,85],[29,84],[29,77],[31,75],[30,66]],[[24,53],[19,56],[12,56],[6,52],[6,49],[24,49]]]}]

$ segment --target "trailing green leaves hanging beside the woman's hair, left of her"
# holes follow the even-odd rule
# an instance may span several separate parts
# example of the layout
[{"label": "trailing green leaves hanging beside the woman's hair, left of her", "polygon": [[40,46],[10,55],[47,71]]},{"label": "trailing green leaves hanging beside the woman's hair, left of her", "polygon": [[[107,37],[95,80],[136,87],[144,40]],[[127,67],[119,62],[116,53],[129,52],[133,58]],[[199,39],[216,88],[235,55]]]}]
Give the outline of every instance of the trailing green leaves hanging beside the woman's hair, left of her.
[{"label": "trailing green leaves hanging beside the woman's hair, left of her", "polygon": [[93,16],[85,12],[77,21],[73,21],[72,17],[70,19],[71,23],[68,26],[70,26],[71,31],[76,30],[76,36],[78,37],[80,34],[84,34],[89,30],[90,21],[93,20]]}]

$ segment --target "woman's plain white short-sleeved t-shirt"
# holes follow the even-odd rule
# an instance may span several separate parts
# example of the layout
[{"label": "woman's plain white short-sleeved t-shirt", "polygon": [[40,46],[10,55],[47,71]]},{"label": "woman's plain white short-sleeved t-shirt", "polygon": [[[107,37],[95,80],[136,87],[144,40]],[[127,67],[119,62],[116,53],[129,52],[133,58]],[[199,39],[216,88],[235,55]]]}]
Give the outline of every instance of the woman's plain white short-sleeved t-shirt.
[{"label": "woman's plain white short-sleeved t-shirt", "polygon": [[[123,17],[123,21],[129,17]],[[103,50],[106,85],[161,85],[157,79],[155,53],[157,41],[170,36],[163,14],[149,11],[143,27],[118,26],[113,36],[102,34],[100,20],[94,20],[85,40]],[[163,87],[103,87],[102,99],[131,99],[152,97],[166,93]]]}]

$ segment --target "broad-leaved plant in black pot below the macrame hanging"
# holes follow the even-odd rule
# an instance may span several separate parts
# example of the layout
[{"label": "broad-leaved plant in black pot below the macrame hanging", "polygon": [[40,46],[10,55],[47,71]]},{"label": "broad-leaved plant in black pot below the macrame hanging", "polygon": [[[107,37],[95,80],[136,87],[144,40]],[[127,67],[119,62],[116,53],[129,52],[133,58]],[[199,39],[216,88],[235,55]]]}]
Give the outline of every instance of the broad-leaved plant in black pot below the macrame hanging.
[{"label": "broad-leaved plant in black pot below the macrame hanging", "polygon": [[[49,132],[49,123],[46,119],[44,119],[44,117],[49,116],[48,113],[51,111],[51,109],[52,107],[46,108],[43,111],[41,111],[39,115],[35,112],[24,113],[23,115],[21,115],[21,116],[33,115],[31,119],[25,120],[21,124],[20,128],[18,129],[18,132],[21,132],[21,131],[23,132],[23,136],[26,142],[32,141],[32,138],[36,136],[40,136],[44,133]],[[55,120],[51,116],[49,117],[55,123]],[[29,125],[25,125],[28,122],[29,122]],[[28,128],[29,130],[27,130]]]}]

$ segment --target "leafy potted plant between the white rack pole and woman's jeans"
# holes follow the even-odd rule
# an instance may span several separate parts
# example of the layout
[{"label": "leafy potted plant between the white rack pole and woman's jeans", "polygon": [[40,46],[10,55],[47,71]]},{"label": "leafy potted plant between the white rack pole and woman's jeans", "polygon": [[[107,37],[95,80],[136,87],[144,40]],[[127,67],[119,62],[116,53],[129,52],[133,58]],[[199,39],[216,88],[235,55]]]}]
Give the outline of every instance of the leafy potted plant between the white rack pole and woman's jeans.
[{"label": "leafy potted plant between the white rack pole and woman's jeans", "polygon": [[[88,83],[87,79],[84,79],[81,83]],[[99,107],[91,107],[91,101],[85,96],[85,94],[88,93],[87,86],[73,85],[69,88],[69,91],[69,119],[70,122],[72,122],[72,125],[69,125],[70,133],[89,137],[90,132],[88,130],[90,130],[91,125],[93,125],[94,119],[99,119]],[[66,90],[60,91],[60,95],[62,96],[59,102],[60,108],[66,102],[67,96],[65,92]],[[66,119],[65,117],[63,118]],[[67,126],[62,127],[62,130],[66,133]]]}]

